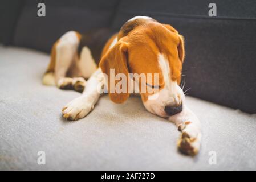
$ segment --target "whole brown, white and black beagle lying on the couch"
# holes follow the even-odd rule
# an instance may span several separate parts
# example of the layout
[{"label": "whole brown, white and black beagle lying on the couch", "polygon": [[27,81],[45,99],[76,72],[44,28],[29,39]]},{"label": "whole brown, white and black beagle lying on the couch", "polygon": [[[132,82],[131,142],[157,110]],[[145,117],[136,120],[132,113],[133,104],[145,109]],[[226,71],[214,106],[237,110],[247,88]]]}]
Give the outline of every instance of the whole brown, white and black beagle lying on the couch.
[{"label": "whole brown, white and black beagle lying on the couch", "polygon": [[[64,34],[52,47],[43,84],[82,92],[62,109],[64,118],[77,120],[94,108],[102,93],[99,88],[104,88],[106,82],[117,86],[118,82],[110,78],[111,70],[115,71],[114,76],[120,73],[126,76],[122,78],[125,83],[131,73],[157,73],[158,84],[141,83],[137,93],[150,113],[176,124],[181,131],[178,149],[193,156],[200,148],[201,126],[186,106],[184,92],[179,86],[184,56],[184,40],[176,29],[147,16],[136,16],[124,23],[117,33],[101,29],[84,35],[76,31]],[[101,74],[104,78],[99,77]],[[122,103],[128,99],[130,92],[109,92],[108,83],[108,95],[113,102]],[[126,86],[124,91],[129,90],[128,84],[122,87]],[[143,87],[154,92],[141,92]]]}]

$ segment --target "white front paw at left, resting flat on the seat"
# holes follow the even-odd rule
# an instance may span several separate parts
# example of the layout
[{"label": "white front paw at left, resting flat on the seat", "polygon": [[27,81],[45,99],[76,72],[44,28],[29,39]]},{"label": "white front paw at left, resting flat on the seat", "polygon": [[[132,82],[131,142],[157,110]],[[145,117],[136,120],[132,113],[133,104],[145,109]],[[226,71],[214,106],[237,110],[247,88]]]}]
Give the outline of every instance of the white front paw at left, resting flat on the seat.
[{"label": "white front paw at left, resting flat on the seat", "polygon": [[78,97],[63,107],[62,114],[64,118],[75,121],[84,118],[92,109],[94,109],[93,102],[84,97]]}]

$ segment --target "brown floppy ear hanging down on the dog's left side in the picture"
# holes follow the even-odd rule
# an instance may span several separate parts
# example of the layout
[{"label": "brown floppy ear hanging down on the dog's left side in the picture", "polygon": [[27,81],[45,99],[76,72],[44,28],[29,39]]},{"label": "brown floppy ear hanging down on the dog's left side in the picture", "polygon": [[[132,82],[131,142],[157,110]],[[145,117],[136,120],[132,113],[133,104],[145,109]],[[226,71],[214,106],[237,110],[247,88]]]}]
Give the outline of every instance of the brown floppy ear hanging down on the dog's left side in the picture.
[{"label": "brown floppy ear hanging down on the dog's left side in the picture", "polygon": [[[108,52],[100,60],[100,68],[103,73],[108,76],[108,95],[113,102],[123,103],[129,97],[128,93],[128,67],[127,67],[127,53],[128,53],[128,43],[119,40],[115,46],[108,50]],[[115,74],[111,74],[115,71]],[[121,77],[117,77],[120,80],[116,80],[117,74],[122,73]],[[114,76],[114,77],[113,77]],[[122,84],[120,84],[120,82]],[[117,83],[119,83],[117,85]],[[122,90],[121,92],[116,90]],[[123,88],[126,86],[126,88]]]}]

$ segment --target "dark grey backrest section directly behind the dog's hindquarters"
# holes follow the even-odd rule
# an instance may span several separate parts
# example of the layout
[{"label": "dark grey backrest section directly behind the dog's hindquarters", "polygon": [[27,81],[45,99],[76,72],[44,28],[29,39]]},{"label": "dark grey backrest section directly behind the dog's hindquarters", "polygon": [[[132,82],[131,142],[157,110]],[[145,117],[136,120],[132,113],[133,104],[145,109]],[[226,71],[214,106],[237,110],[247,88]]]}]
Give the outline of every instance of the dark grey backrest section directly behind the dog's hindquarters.
[{"label": "dark grey backrest section directly behind the dog's hindquarters", "polygon": [[[46,5],[45,17],[37,15],[40,2]],[[26,0],[15,29],[14,45],[50,52],[52,44],[67,31],[108,27],[116,5],[117,0]]]}]

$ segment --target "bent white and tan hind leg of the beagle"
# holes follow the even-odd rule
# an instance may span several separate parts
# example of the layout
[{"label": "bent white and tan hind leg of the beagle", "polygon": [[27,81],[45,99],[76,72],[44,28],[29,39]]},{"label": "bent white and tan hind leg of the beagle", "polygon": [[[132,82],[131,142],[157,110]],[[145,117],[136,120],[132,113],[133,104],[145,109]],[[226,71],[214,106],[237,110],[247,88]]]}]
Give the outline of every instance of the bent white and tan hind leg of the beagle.
[{"label": "bent white and tan hind leg of the beagle", "polygon": [[[83,92],[86,80],[74,74],[67,77],[68,71],[75,72],[80,34],[69,31],[54,43],[51,49],[51,60],[43,76],[44,85],[56,85],[60,89],[74,89]],[[75,76],[75,77],[74,77]],[[74,78],[73,78],[74,77]]]}]

